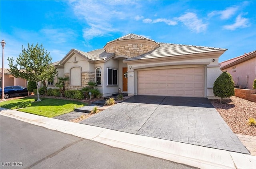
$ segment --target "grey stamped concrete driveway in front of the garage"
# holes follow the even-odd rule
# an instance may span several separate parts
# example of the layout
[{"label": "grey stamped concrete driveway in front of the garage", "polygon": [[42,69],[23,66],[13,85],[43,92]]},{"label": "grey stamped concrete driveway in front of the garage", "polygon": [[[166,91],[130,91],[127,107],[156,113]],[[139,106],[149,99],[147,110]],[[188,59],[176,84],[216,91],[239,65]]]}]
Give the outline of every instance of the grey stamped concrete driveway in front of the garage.
[{"label": "grey stamped concrete driveway in front of the garage", "polygon": [[249,154],[207,98],[136,95],[80,123]]}]

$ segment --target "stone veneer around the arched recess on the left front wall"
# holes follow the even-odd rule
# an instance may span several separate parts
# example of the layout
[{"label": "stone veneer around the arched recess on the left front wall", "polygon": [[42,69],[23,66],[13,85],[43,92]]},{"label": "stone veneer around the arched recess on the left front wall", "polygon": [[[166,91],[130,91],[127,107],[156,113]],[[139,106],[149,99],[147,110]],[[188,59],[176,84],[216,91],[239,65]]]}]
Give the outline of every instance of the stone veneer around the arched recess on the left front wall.
[{"label": "stone veneer around the arched recess on the left front wall", "polygon": [[[70,77],[69,73],[64,73],[64,77]],[[82,86],[70,86],[70,81],[66,81],[66,90],[80,90],[81,88],[87,86],[89,81],[95,81],[95,73],[92,72],[82,72]]]}]

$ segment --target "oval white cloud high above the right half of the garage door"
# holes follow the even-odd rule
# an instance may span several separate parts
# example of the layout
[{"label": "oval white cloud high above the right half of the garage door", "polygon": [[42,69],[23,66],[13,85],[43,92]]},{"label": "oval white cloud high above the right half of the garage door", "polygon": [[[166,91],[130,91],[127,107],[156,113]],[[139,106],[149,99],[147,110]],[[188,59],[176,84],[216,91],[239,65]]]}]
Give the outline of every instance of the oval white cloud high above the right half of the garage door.
[{"label": "oval white cloud high above the right half of the garage door", "polygon": [[196,31],[197,33],[203,32],[207,29],[207,24],[204,24],[202,20],[198,19],[196,14],[188,12],[178,18],[178,21],[182,22],[188,29]]}]

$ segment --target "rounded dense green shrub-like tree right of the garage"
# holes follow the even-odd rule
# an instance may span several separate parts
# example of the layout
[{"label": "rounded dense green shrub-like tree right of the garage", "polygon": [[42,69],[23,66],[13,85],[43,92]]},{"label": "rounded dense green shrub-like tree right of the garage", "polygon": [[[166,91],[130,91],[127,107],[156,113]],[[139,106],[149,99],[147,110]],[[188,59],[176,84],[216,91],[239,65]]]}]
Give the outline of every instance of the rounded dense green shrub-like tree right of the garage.
[{"label": "rounded dense green shrub-like tree right of the garage", "polygon": [[213,85],[213,94],[221,98],[221,103],[224,98],[235,95],[234,81],[229,73],[223,72],[216,79]]}]

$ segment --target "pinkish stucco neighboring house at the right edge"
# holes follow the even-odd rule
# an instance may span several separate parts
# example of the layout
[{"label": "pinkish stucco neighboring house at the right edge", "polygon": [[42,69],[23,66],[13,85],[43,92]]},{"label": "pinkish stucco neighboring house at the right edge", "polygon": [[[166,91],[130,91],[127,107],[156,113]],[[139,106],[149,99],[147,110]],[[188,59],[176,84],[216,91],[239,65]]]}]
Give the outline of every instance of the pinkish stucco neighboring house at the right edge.
[{"label": "pinkish stucco neighboring house at the right edge", "polygon": [[256,51],[220,63],[220,69],[232,75],[235,87],[252,89],[256,79]]}]

